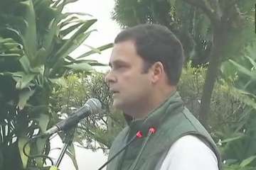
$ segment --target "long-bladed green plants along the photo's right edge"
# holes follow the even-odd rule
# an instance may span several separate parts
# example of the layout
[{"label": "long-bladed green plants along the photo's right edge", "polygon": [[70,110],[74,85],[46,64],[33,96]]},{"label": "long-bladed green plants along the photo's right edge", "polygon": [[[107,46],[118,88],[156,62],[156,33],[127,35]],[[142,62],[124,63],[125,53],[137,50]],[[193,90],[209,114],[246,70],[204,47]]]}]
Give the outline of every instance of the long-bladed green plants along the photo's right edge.
[{"label": "long-bladed green plants along the photo's right edge", "polygon": [[[226,81],[233,81],[233,96],[246,104],[244,112],[240,115],[235,126],[226,128],[223,131],[222,151],[227,161],[232,160],[230,167],[238,166],[241,169],[250,167],[255,169],[255,45],[248,45],[245,55],[225,62],[222,67],[222,74]],[[227,139],[228,138],[228,139]],[[230,161],[229,161],[230,162]]]}]

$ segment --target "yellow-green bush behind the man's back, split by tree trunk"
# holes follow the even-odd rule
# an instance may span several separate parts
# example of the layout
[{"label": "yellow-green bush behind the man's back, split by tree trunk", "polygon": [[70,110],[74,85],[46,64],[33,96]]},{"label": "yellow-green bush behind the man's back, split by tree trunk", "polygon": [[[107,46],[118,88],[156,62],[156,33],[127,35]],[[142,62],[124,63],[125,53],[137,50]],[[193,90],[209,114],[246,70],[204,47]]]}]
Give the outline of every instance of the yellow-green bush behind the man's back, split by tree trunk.
[{"label": "yellow-green bush behind the man's back, split by tree trunk", "polygon": [[[188,62],[186,68],[183,69],[181,80],[178,84],[178,91],[181,94],[185,106],[198,118],[200,109],[201,94],[203,84],[206,77],[206,68],[191,66]],[[220,79],[215,85],[213,96],[211,98],[210,118],[208,119],[210,134],[215,142],[228,137],[220,135],[226,128],[234,127],[243,111],[245,111],[245,103],[240,100],[240,96],[233,89],[233,85],[223,79]]]}]

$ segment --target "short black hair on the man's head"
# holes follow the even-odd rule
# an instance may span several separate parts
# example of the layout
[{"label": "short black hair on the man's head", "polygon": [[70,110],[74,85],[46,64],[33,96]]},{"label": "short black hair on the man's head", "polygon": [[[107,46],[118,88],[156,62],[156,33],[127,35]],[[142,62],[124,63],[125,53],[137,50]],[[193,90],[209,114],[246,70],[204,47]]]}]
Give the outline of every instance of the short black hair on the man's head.
[{"label": "short black hair on the man's head", "polygon": [[157,24],[140,24],[122,30],[114,39],[114,43],[127,40],[134,41],[137,54],[145,62],[145,72],[154,62],[161,62],[164,65],[169,84],[178,84],[185,57],[181,42],[171,30]]}]

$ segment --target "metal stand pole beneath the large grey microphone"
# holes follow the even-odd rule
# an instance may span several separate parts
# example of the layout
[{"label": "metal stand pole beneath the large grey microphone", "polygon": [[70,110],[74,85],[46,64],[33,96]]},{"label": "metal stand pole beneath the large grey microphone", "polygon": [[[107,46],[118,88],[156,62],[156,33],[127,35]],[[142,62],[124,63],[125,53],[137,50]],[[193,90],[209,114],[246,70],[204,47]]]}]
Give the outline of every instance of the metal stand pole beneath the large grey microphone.
[{"label": "metal stand pole beneath the large grey microphone", "polygon": [[58,160],[55,163],[55,167],[57,167],[57,168],[58,168],[58,166],[60,166],[60,162],[63,159],[64,154],[68,149],[68,146],[70,146],[73,142],[75,128],[73,128],[71,130],[66,130],[66,131],[64,131],[64,133],[65,133],[65,137],[63,140],[64,145],[63,145],[63,148],[61,149],[60,156],[58,157]]}]

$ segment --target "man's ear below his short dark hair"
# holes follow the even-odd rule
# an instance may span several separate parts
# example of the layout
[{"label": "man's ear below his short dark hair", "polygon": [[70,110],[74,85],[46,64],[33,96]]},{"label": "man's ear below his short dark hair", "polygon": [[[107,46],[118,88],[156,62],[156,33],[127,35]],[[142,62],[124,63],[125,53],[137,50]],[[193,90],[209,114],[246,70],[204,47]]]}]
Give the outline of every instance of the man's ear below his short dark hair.
[{"label": "man's ear below his short dark hair", "polygon": [[164,65],[161,62],[155,62],[151,66],[151,83],[155,84],[164,78]]}]

